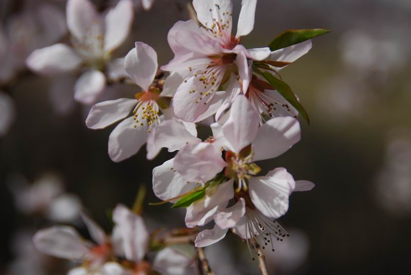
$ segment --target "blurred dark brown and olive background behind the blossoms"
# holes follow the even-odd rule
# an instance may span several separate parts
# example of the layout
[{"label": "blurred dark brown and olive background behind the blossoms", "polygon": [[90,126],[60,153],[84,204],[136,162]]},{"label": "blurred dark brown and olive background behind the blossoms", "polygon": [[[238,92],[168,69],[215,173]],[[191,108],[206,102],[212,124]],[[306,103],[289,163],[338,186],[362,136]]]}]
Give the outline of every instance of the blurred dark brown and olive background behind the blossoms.
[{"label": "blurred dark brown and olive background behind the blossoms", "polygon": [[[110,5],[94,2],[102,9]],[[236,20],[240,1],[233,2]],[[64,16],[65,1],[0,0],[0,39],[16,45],[0,62],[4,274],[62,274],[53,270],[55,260],[30,248],[31,234],[54,223],[73,224],[86,234],[77,219],[82,207],[109,230],[107,211],[117,203],[132,206],[141,185],[148,190],[143,215],[150,228],[184,226],[184,211],[148,206],[158,200],[151,171],[173,154],[163,150],[147,161],[143,146],[134,157],[112,162],[107,140],[113,127],[86,128],[89,106],[73,101],[72,86],[64,84],[72,80],[57,85],[25,68],[33,49],[67,41],[64,24],[37,13],[45,4],[57,9],[56,17],[58,11]],[[160,64],[167,63],[173,54],[166,34],[178,20],[188,20],[184,1],[156,0],[150,11],[138,10],[116,56],[143,41],[157,50]],[[41,36],[51,27],[59,33]],[[281,72],[311,124],[301,119],[301,142],[259,164],[265,172],[285,167],[316,187],[292,194],[288,213],[279,219],[291,236],[267,254],[269,269],[272,274],[404,273],[411,259],[411,1],[260,0],[254,31],[242,43],[266,46],[291,28],[332,32],[314,39],[312,50]],[[0,43],[0,52],[6,44]],[[135,93],[133,87],[111,85],[100,100]],[[199,132],[209,134],[203,126]],[[232,234],[206,253],[217,274],[257,274],[246,244]]]}]

